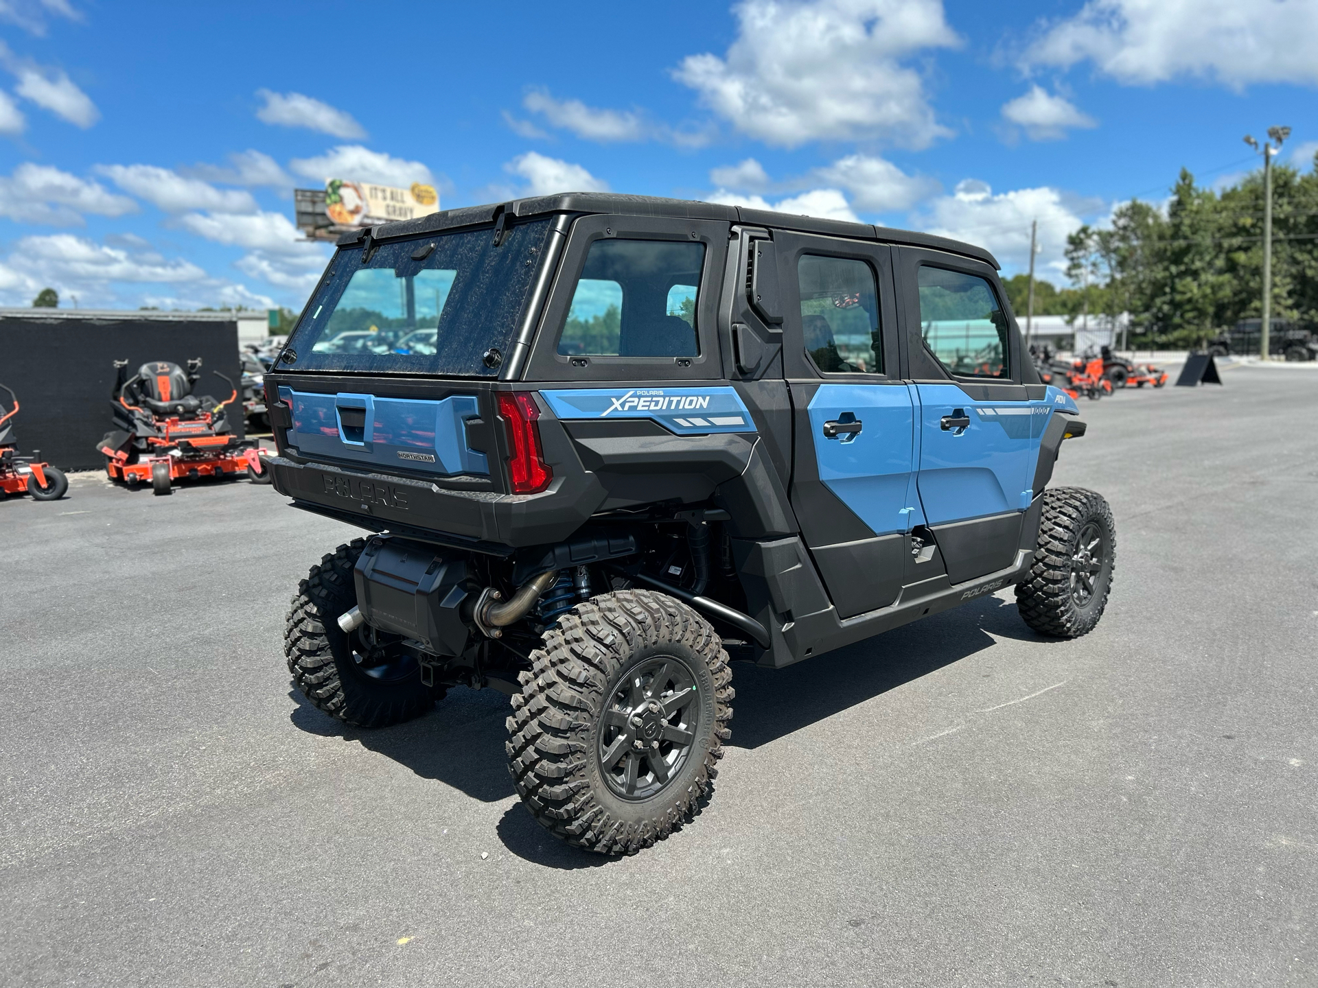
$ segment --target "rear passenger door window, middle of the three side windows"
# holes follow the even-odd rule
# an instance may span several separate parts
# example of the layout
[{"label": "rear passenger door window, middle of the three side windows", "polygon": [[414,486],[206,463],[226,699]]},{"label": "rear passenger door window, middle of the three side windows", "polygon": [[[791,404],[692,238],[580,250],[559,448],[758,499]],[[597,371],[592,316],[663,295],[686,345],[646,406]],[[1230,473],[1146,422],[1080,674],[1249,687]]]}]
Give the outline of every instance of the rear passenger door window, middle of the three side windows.
[{"label": "rear passenger door window, middle of the three side windows", "polygon": [[883,340],[874,269],[863,261],[801,254],[805,352],[824,374],[882,374]]}]

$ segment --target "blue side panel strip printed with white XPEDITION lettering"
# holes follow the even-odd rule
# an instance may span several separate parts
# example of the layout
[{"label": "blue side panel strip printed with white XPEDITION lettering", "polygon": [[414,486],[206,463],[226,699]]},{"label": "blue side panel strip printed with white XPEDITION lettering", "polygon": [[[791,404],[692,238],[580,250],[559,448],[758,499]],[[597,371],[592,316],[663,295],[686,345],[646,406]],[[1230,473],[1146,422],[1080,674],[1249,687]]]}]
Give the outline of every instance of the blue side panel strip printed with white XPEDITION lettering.
[{"label": "blue side panel strip printed with white XPEDITION lettering", "polygon": [[540,391],[559,419],[654,419],[679,436],[754,432],[731,387],[585,387]]}]

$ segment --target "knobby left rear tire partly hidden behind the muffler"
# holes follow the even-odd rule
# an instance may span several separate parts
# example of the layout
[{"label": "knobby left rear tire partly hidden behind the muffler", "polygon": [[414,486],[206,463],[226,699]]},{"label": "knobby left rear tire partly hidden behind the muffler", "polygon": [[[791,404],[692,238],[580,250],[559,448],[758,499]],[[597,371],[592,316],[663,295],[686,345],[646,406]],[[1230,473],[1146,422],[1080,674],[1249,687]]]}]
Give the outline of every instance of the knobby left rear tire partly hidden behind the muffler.
[{"label": "knobby left rear tire partly hidden behind the muffler", "polygon": [[420,681],[420,667],[399,657],[391,665],[362,665],[362,626],[351,635],[339,615],[357,603],[352,568],[365,547],[353,539],[326,555],[298,584],[283,632],[283,655],[293,681],[307,701],[331,717],[357,727],[387,727],[430,710],[444,688]]}]

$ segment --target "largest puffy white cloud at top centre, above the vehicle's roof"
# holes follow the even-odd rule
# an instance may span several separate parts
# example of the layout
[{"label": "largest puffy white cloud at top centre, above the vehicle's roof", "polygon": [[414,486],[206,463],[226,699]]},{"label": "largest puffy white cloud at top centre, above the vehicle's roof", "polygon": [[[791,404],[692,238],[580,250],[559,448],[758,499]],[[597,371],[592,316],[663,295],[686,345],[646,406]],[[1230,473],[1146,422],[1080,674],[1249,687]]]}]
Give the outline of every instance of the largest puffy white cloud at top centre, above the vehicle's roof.
[{"label": "largest puffy white cloud at top centre, above the vehicle's roof", "polygon": [[766,144],[882,138],[928,146],[937,124],[903,59],[960,43],[941,0],[742,0],[724,58],[689,55],[675,78]]}]

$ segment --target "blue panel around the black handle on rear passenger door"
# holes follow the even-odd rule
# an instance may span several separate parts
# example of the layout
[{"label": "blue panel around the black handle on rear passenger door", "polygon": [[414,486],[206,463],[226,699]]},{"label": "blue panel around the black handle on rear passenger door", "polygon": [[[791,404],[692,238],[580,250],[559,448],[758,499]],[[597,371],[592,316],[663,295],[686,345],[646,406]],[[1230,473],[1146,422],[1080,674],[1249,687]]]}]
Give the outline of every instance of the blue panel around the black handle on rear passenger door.
[{"label": "blue panel around the black handle on rear passenger door", "polygon": [[[908,531],[915,411],[905,386],[820,385],[808,412],[825,486],[875,535]],[[859,422],[861,431],[828,439],[828,422]]]}]

